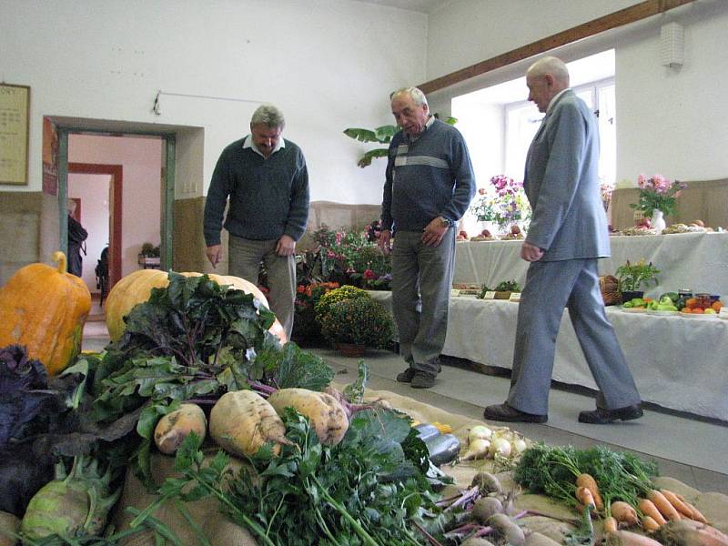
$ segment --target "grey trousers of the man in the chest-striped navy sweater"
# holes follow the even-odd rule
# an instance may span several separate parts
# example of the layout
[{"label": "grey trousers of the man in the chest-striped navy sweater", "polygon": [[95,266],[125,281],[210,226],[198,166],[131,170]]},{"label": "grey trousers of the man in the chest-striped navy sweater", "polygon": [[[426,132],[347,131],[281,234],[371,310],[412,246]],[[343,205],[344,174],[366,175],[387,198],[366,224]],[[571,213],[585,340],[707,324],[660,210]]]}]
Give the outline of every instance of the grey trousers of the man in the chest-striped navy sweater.
[{"label": "grey trousers of the man in the chest-striped navy sweater", "polygon": [[455,228],[437,247],[422,243],[421,231],[398,231],[392,248],[392,312],[399,354],[411,368],[437,375],[448,332],[455,258]]}]

